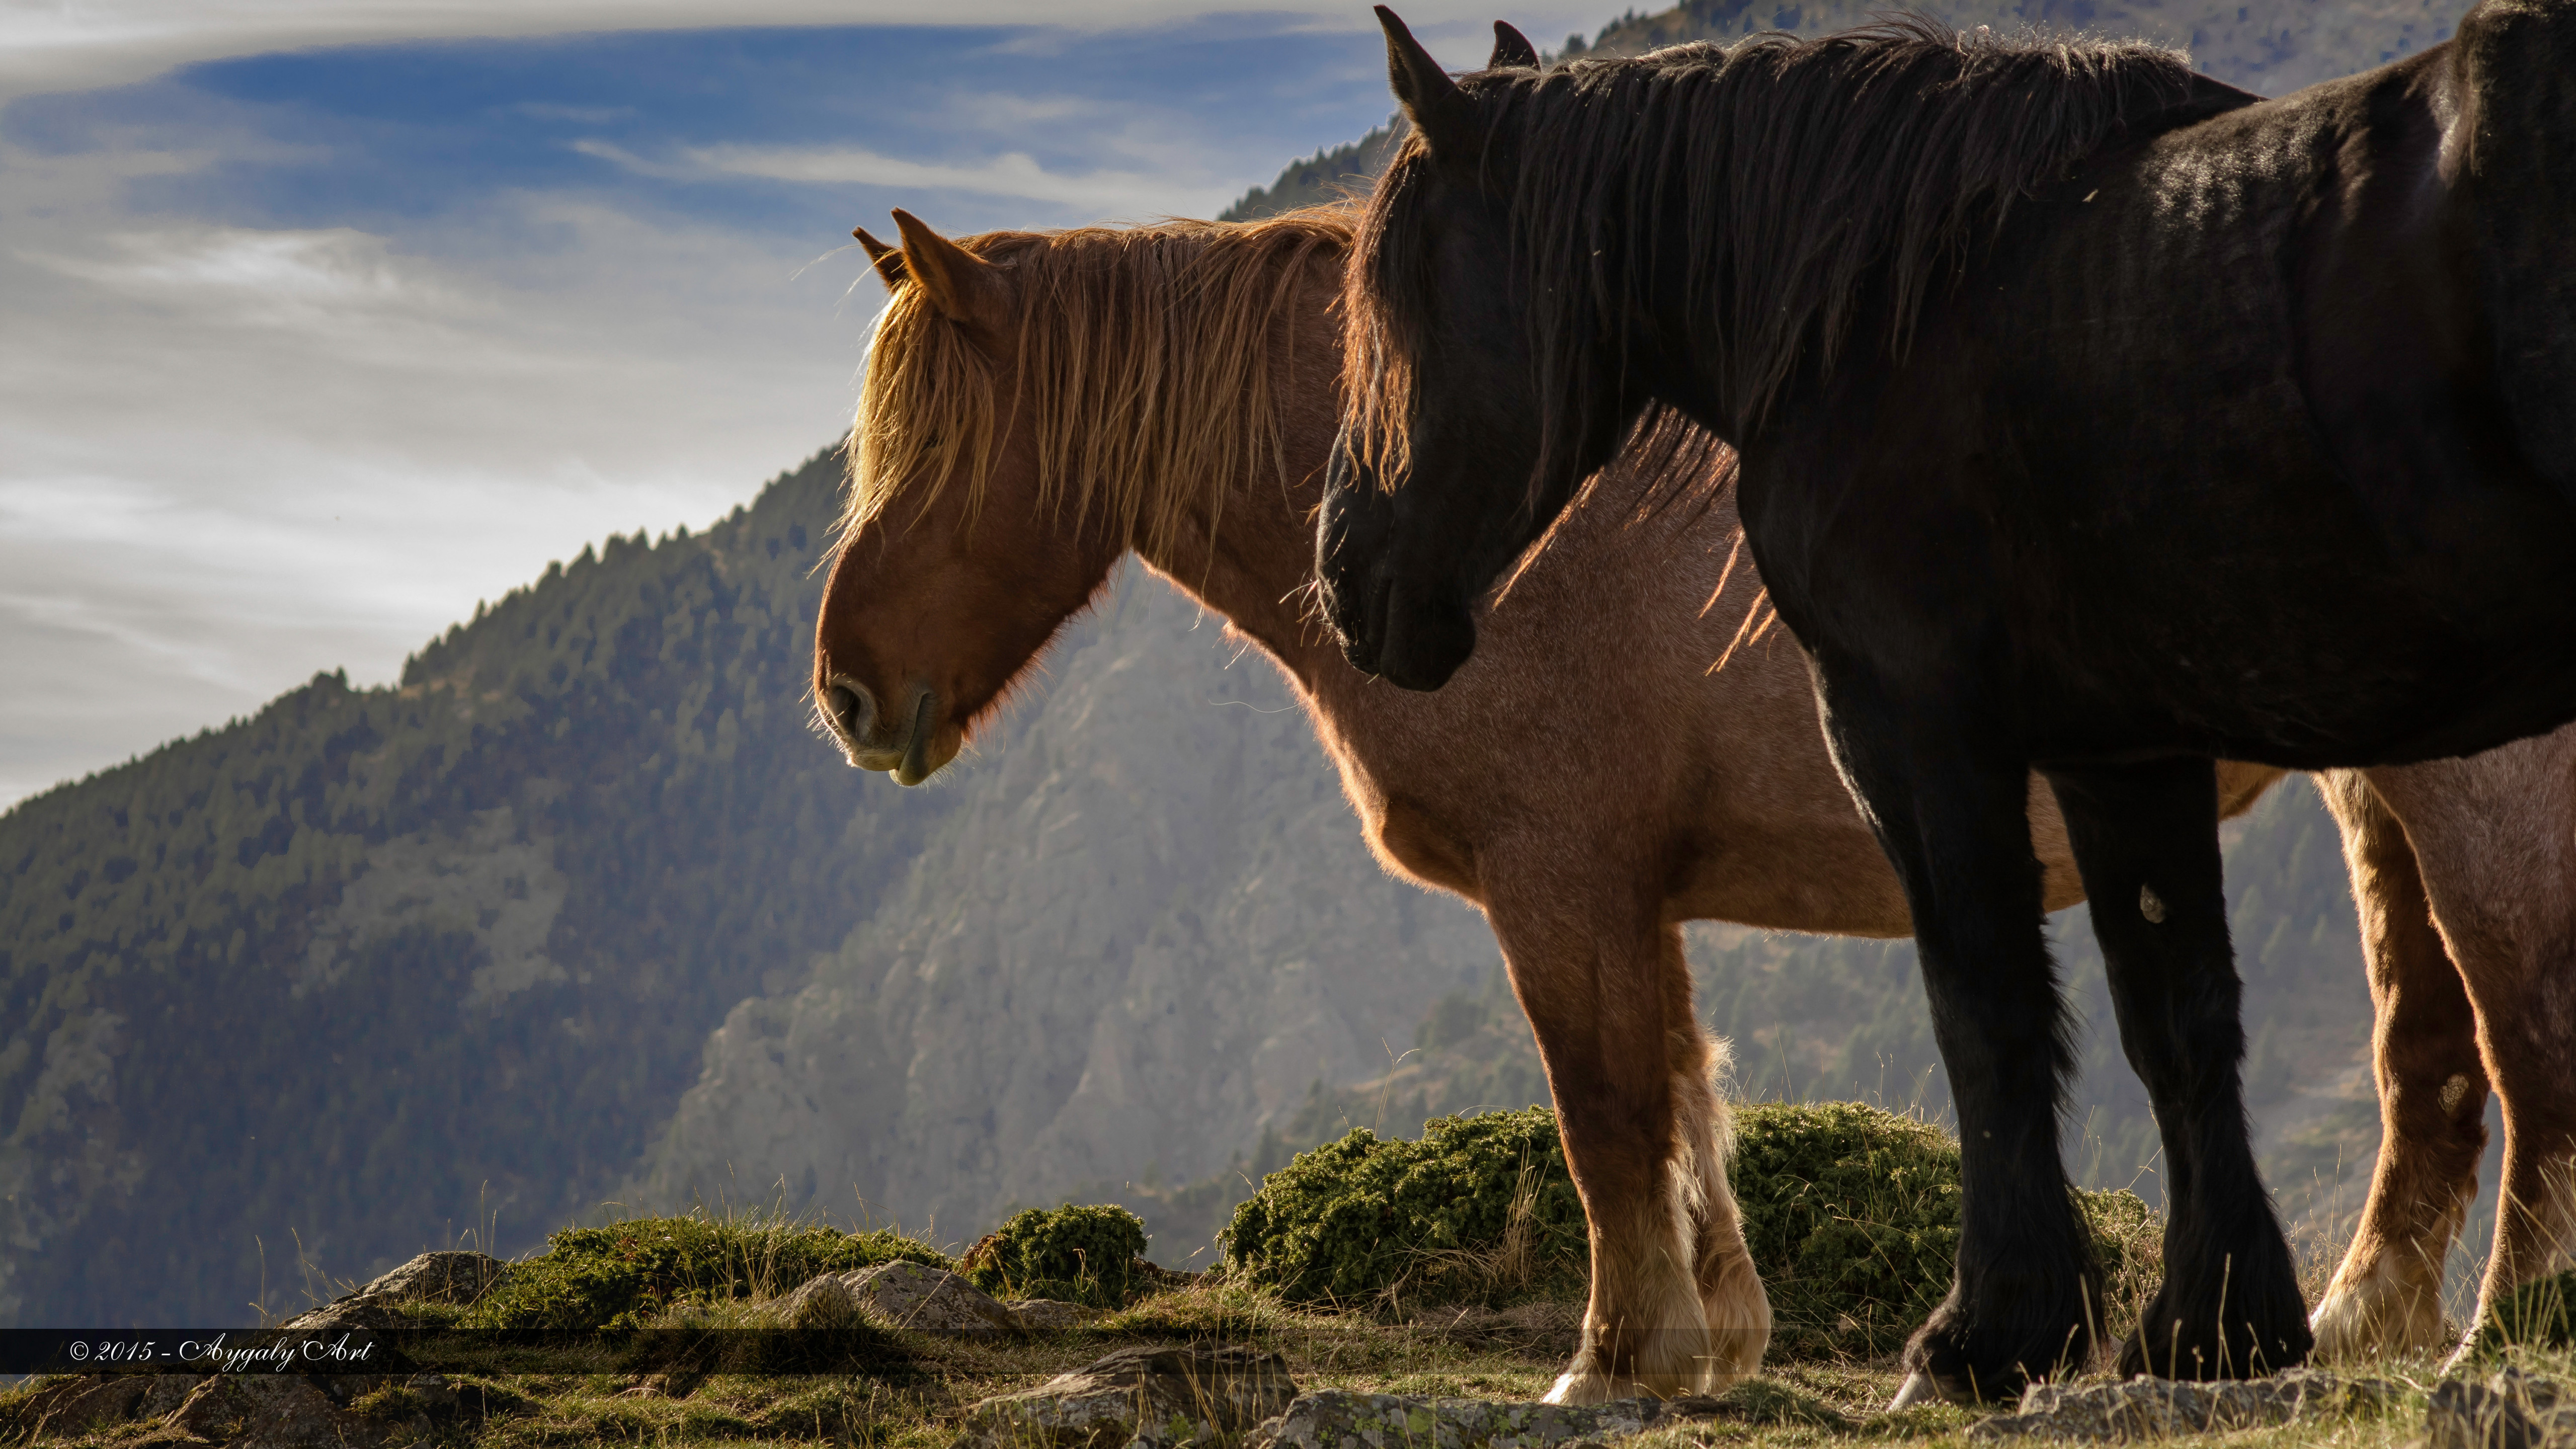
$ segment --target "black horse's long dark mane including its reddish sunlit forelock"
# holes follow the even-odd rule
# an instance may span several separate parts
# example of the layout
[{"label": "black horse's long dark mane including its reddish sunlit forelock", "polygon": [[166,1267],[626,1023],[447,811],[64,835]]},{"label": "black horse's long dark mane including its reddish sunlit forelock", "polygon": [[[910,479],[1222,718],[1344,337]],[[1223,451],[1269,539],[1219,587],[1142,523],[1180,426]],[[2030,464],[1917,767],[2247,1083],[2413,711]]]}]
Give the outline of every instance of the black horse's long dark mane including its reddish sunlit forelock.
[{"label": "black horse's long dark mane including its reddish sunlit forelock", "polygon": [[[2187,98],[2192,70],[2141,41],[1896,18],[1461,85],[1489,121],[1486,165],[1510,170],[1515,266],[1558,278],[1530,289],[1546,474],[1584,431],[1584,376],[1620,348],[1667,260],[1656,240],[1687,237],[1687,325],[1726,358],[1721,392],[1741,441],[1808,348],[1832,366],[1873,286],[1891,304],[1886,343],[1901,351],[1924,299],[2014,199]],[[1406,142],[1350,260],[1345,382],[1376,462],[1401,462],[1412,415],[1425,299],[1409,201],[1427,165],[1422,139]],[[1628,237],[1646,242],[1618,245]]]}]

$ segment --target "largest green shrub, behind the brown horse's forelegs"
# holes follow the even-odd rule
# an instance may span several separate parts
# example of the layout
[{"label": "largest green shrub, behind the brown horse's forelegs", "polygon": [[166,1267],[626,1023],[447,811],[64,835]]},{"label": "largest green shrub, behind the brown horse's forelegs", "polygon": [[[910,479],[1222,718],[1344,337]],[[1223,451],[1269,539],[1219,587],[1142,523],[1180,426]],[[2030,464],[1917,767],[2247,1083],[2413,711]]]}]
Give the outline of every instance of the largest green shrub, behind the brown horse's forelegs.
[{"label": "largest green shrub, behind the brown horse's forelegs", "polygon": [[[1783,1354],[1883,1354],[1950,1292],[1958,1142],[1860,1104],[1736,1109],[1728,1173]],[[2154,1261],[2133,1194],[2079,1194],[2117,1294]],[[1360,1129],[1262,1178],[1226,1227],[1226,1271],[1291,1302],[1579,1294],[1584,1214],[1543,1106]]]}]

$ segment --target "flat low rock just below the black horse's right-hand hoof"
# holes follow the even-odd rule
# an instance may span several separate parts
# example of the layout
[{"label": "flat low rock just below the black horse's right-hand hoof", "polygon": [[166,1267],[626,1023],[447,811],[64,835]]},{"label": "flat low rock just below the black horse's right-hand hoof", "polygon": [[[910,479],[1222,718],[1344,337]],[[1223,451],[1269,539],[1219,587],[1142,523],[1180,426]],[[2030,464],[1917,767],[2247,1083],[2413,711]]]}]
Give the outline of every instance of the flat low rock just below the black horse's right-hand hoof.
[{"label": "flat low rock just below the black horse's right-hand hoof", "polygon": [[2190,1385],[2138,1374],[2125,1385],[2030,1385],[2022,1405],[1968,1428],[1968,1439],[2063,1439],[2128,1444],[2174,1434],[2231,1434],[2298,1418],[2339,1418],[2388,1408],[2385,1379],[2339,1379],[2285,1369],[2269,1379]]}]

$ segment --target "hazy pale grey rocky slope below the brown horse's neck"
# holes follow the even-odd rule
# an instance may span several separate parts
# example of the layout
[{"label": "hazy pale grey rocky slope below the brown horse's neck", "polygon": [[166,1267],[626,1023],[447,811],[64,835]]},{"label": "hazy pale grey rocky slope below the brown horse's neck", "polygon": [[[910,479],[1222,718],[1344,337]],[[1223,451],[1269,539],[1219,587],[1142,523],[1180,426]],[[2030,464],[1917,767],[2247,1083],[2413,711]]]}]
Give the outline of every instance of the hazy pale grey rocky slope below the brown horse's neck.
[{"label": "hazy pale grey rocky slope below the brown horse's neck", "polygon": [[1126,570],[1046,696],[951,766],[902,887],[734,1008],[636,1199],[971,1238],[1077,1186],[1203,1178],[1489,980],[1484,918],[1378,869],[1285,681],[1221,624]]}]

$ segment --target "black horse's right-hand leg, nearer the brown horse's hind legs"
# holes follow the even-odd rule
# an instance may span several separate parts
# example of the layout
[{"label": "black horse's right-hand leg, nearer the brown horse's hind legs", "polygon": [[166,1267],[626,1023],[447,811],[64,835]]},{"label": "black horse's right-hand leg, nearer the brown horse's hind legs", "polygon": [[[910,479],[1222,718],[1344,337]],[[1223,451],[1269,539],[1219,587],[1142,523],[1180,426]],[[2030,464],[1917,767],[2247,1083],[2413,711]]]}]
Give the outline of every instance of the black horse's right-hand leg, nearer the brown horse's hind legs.
[{"label": "black horse's right-hand leg, nearer the brown horse's hind legs", "polygon": [[2239,1379],[2308,1356],[2308,1305],[2246,1137],[2241,982],[2210,761],[2048,771],[2110,967],[2120,1047],[2164,1134],[2164,1287],[2120,1372]]}]

